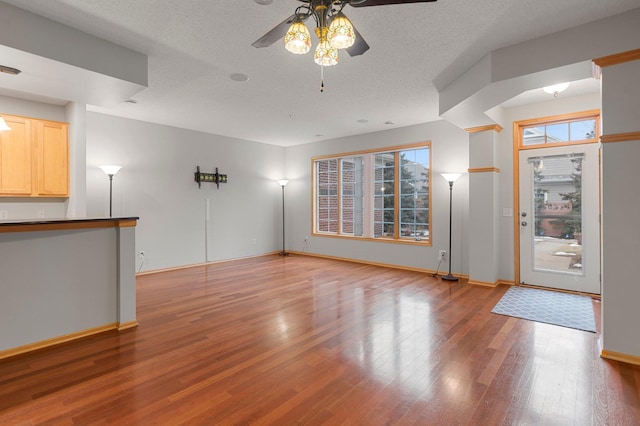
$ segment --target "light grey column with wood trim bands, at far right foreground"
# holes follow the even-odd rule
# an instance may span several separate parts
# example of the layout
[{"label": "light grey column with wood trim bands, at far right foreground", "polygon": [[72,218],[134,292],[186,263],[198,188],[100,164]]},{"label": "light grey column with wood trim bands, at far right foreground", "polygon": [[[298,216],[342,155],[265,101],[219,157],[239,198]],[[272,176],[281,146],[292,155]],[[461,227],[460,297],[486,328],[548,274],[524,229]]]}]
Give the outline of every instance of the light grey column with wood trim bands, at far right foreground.
[{"label": "light grey column with wood trim bands, at far right foreground", "polygon": [[602,69],[601,139],[602,356],[640,364],[638,56]]}]

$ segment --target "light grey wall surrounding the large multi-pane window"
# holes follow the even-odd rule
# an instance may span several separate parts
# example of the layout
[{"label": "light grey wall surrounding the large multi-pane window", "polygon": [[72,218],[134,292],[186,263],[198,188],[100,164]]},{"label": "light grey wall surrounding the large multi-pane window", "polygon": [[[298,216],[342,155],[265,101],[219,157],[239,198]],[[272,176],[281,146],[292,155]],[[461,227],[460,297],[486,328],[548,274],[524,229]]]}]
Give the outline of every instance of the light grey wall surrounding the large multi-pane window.
[{"label": "light grey wall surrounding the large multi-pane window", "polygon": [[[311,158],[372,148],[391,147],[423,141],[432,142],[432,226],[433,246],[358,241],[311,236]],[[442,172],[466,172],[468,135],[464,130],[436,121],[340,139],[289,147],[286,150],[286,239],[287,249],[379,262],[411,268],[435,270],[436,253],[449,245],[449,185]],[[453,188],[453,263],[452,272],[467,274],[465,229],[468,226],[468,177],[461,177]],[[304,247],[304,238],[309,244]],[[447,264],[441,265],[441,270]]]}]

